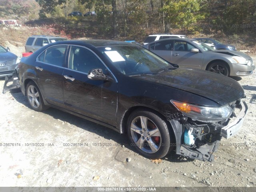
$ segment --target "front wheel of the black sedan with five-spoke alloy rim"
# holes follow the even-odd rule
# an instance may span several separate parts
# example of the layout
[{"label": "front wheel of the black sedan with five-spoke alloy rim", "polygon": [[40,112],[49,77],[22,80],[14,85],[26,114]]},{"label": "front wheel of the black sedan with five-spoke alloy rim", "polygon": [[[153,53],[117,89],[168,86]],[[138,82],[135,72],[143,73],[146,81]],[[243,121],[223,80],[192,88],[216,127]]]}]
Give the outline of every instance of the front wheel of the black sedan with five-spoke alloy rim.
[{"label": "front wheel of the black sedan with five-spoke alloy rim", "polygon": [[132,146],[146,158],[162,158],[173,148],[166,122],[154,112],[132,112],[128,118],[127,132]]}]

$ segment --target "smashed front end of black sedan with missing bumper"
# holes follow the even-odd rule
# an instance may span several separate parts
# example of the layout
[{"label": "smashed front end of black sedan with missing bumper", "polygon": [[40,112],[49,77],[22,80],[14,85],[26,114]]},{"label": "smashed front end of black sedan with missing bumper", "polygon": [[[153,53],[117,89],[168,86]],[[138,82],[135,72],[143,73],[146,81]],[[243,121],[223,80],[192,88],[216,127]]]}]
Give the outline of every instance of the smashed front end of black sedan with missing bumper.
[{"label": "smashed front end of black sedan with missing bumper", "polygon": [[176,154],[214,161],[222,137],[234,136],[243,125],[248,107],[236,100],[219,108],[170,101],[179,111],[170,123],[176,137]]}]

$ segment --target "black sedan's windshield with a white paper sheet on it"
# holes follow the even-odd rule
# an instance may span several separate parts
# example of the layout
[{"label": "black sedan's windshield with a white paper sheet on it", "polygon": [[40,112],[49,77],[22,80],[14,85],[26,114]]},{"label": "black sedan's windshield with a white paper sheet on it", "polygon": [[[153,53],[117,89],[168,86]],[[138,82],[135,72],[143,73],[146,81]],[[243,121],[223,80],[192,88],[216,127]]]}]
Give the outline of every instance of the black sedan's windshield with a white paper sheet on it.
[{"label": "black sedan's windshield with a white paper sheet on it", "polygon": [[169,62],[136,45],[98,47],[113,66],[127,76],[152,75],[174,69]]}]

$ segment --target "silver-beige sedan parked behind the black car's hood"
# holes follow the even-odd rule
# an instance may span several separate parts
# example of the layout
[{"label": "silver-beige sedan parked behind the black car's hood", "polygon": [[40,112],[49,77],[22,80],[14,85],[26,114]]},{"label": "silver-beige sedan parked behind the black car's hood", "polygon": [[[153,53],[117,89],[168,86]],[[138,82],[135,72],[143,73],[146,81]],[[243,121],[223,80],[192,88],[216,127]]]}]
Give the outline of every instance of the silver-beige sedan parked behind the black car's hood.
[{"label": "silver-beige sedan parked behind the black car's hood", "polygon": [[163,39],[143,47],[173,64],[225,76],[248,76],[255,69],[250,56],[238,51],[214,50],[195,39]]}]

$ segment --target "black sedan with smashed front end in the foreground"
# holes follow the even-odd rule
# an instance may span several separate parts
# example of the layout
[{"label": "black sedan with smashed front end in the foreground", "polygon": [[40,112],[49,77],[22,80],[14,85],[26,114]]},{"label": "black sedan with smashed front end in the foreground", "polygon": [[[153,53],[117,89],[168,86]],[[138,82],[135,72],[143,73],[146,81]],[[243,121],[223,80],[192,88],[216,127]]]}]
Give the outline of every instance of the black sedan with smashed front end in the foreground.
[{"label": "black sedan with smashed front end in the foreground", "polygon": [[178,68],[126,42],[46,45],[21,61],[18,79],[32,109],[55,107],[127,133],[131,145],[153,159],[175,149],[213,161],[222,136],[234,136],[247,112],[235,80]]}]

